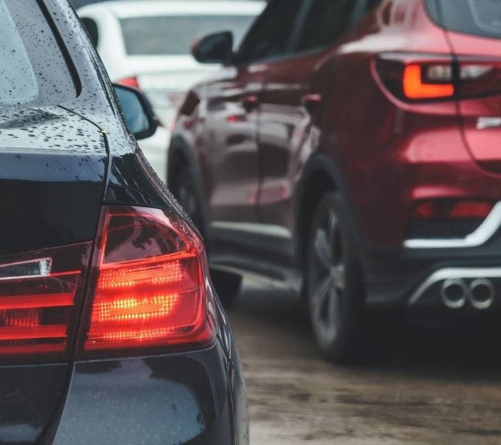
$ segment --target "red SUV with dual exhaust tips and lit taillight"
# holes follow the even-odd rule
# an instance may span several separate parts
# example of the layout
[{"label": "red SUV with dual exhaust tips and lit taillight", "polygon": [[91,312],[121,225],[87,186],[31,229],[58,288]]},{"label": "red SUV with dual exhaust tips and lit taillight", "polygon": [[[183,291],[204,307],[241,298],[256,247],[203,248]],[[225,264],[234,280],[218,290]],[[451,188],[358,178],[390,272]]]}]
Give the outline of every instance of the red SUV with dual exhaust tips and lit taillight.
[{"label": "red SUV with dual exhaust tips and lit taillight", "polygon": [[500,39],[498,0],[271,0],[237,51],[195,44],[223,69],[168,177],[223,296],[230,273],[287,282],[336,360],[367,309],[501,307]]}]

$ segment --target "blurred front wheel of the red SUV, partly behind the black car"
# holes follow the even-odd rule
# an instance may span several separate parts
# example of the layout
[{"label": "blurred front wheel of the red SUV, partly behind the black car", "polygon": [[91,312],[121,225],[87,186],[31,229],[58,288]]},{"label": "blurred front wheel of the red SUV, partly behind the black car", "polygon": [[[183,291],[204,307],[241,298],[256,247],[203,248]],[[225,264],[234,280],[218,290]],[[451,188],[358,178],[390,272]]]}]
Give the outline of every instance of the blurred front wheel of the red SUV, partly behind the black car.
[{"label": "blurred front wheel of the red SUV, partly behind the black car", "polygon": [[173,183],[172,192],[186,214],[193,221],[193,224],[196,225],[200,234],[205,236],[202,208],[200,206],[200,195],[198,194],[195,178],[187,165],[184,165],[180,172],[177,173]]}]

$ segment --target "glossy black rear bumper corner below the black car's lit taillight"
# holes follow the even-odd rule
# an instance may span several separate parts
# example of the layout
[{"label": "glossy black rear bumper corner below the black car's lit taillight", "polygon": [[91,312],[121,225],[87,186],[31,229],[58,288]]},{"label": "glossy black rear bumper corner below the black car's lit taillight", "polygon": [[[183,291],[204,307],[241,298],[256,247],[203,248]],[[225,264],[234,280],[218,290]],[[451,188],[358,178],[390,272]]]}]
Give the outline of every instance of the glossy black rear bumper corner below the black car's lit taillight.
[{"label": "glossy black rear bumper corner below the black car's lit taillight", "polygon": [[232,377],[219,343],[183,355],[78,362],[52,443],[234,444],[232,394],[242,383]]}]

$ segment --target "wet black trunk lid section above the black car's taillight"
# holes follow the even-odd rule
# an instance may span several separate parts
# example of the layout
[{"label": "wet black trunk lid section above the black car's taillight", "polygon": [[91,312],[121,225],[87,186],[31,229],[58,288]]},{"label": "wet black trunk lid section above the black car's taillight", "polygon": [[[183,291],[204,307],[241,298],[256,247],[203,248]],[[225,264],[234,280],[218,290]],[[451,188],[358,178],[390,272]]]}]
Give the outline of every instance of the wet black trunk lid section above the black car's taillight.
[{"label": "wet black trunk lid section above the black car's taillight", "polygon": [[93,239],[107,163],[99,129],[62,108],[27,108],[2,111],[0,132],[0,255]]}]

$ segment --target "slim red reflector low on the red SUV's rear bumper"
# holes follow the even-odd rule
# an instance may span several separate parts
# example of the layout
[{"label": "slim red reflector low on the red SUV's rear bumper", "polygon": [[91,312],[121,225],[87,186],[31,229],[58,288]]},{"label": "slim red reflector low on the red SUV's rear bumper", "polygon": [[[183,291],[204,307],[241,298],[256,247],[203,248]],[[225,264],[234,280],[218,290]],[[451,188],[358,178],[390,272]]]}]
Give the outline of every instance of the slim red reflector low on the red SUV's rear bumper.
[{"label": "slim red reflector low on the red SUV's rear bumper", "polygon": [[476,200],[429,200],[420,202],[411,213],[413,219],[486,218],[494,204]]}]

